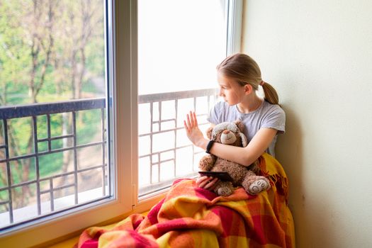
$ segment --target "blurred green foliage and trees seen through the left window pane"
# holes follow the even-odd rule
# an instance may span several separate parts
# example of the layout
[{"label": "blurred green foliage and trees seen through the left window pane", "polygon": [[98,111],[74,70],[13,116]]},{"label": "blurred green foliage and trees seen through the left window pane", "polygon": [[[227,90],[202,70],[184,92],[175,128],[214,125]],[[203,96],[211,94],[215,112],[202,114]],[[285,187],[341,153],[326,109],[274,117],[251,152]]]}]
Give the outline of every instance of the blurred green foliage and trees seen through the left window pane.
[{"label": "blurred green foliage and trees seen through the left window pane", "polygon": [[[101,0],[1,1],[0,106],[101,96],[93,79],[104,80],[105,75],[103,9]],[[38,116],[38,139],[47,137],[46,119],[46,115]],[[32,123],[32,118],[9,120],[12,156],[35,152]],[[71,132],[71,113],[50,115],[51,137]],[[78,113],[77,133],[79,144],[101,137],[101,111]],[[52,149],[71,143],[71,138],[53,140]],[[39,152],[47,149],[47,142],[38,142]],[[40,176],[62,171],[64,157],[66,152],[40,156]],[[0,187],[6,185],[4,168]],[[13,184],[35,179],[35,173],[34,158],[11,164]],[[13,193],[18,198],[28,197],[19,188]],[[0,191],[0,201],[6,198],[7,191]]]}]

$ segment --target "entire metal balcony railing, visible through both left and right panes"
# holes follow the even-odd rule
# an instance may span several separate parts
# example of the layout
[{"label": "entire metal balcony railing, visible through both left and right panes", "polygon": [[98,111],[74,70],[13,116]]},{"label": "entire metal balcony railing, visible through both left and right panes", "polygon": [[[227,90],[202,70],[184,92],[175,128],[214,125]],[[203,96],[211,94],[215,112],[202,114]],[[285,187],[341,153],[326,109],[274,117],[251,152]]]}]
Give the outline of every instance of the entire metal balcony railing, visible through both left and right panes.
[{"label": "entire metal balcony railing, visible through both left and right panes", "polygon": [[[195,150],[193,145],[186,141],[182,141],[186,137],[184,132],[183,120],[186,117],[186,113],[189,110],[196,110],[198,118],[203,119],[208,115],[210,106],[215,103],[217,98],[216,89],[203,89],[194,91],[180,91],[180,92],[169,92],[162,94],[148,94],[138,97],[139,104],[139,118],[140,124],[145,128],[139,128],[139,161],[142,169],[145,169],[142,173],[139,172],[140,186],[139,196],[148,196],[152,193],[167,188],[177,177],[188,177],[196,176],[196,155],[201,155],[203,151]],[[101,140],[97,142],[87,142],[80,144],[77,142],[77,113],[79,111],[97,110],[101,111]],[[72,114],[72,131],[70,133],[58,136],[51,135],[51,115],[52,114]],[[38,117],[40,115],[46,116],[46,137],[38,137]],[[5,106],[0,107],[0,125],[3,129],[3,143],[0,139],[0,165],[4,164],[6,171],[6,185],[0,184],[0,193],[6,192],[8,199],[0,201],[3,208],[6,206],[7,211],[0,213],[9,215],[6,219],[9,224],[4,227],[4,222],[0,220],[0,230],[11,227],[12,225],[18,225],[28,220],[35,220],[38,218],[45,217],[54,213],[59,213],[63,210],[75,208],[80,205],[85,205],[94,201],[99,201],[105,198],[111,197],[110,189],[108,187],[107,176],[110,173],[107,155],[107,142],[106,142],[106,98],[94,98],[74,101],[62,101],[55,103],[35,103],[25,106]],[[22,154],[11,157],[9,152],[11,144],[9,143],[9,121],[15,118],[31,118],[32,125],[32,137],[33,137],[33,152],[29,154]],[[199,125],[206,125],[207,122],[201,120]],[[163,137],[165,135],[166,137]],[[168,135],[168,136],[167,136]],[[0,135],[1,137],[1,135]],[[72,145],[68,147],[52,147],[52,142],[56,140],[72,139]],[[47,143],[47,149],[38,150],[38,145],[42,142]],[[77,150],[86,147],[101,147],[101,159],[95,161],[96,164],[90,164],[89,167],[78,167]],[[146,150],[143,147],[147,147]],[[179,155],[181,150],[188,150],[189,154],[188,162],[184,161]],[[73,169],[67,172],[58,172],[52,176],[40,176],[40,165],[39,159],[47,154],[54,154],[57,152],[72,152],[72,164]],[[20,159],[33,159],[35,163],[36,176],[35,179],[28,181],[22,181],[19,183],[13,182],[13,175],[11,169],[11,163]],[[143,166],[143,161],[145,165]],[[141,163],[142,162],[142,163]],[[180,171],[182,168],[182,171]],[[185,169],[186,168],[186,169]],[[86,171],[94,171],[95,169],[101,169],[101,196],[94,196],[90,201],[81,202],[79,199],[79,174]],[[2,173],[2,172],[1,172]],[[164,176],[166,175],[166,176]],[[68,184],[62,186],[56,186],[54,184],[55,179],[61,179],[64,176],[72,176],[73,180],[70,180]],[[147,178],[143,181],[142,179]],[[142,180],[142,181],[141,181]],[[47,189],[43,189],[41,185],[48,184]],[[15,208],[13,206],[13,191],[15,188],[22,186],[35,186],[35,205],[37,214],[32,218],[19,219],[15,218]],[[67,208],[56,208],[56,196],[55,192],[62,189],[69,188],[72,191],[73,196],[72,205]],[[47,195],[50,201],[49,211],[45,212],[42,210],[42,205],[45,202],[41,201],[42,196]],[[43,207],[45,208],[45,206]],[[19,215],[19,214],[18,214]]]}]

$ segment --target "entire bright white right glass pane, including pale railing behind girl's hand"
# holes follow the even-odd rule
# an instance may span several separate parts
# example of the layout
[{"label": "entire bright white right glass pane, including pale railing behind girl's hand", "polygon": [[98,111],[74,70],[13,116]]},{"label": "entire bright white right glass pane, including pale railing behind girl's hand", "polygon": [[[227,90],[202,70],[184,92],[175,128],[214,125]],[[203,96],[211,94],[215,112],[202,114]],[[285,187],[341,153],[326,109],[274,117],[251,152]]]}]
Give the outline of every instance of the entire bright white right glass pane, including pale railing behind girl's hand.
[{"label": "entire bright white right glass pane, including pale railing behind girl's hand", "polygon": [[139,195],[195,176],[203,151],[183,120],[195,109],[204,131],[226,55],[226,1],[138,1]]}]

